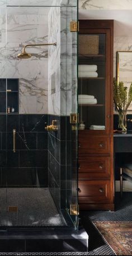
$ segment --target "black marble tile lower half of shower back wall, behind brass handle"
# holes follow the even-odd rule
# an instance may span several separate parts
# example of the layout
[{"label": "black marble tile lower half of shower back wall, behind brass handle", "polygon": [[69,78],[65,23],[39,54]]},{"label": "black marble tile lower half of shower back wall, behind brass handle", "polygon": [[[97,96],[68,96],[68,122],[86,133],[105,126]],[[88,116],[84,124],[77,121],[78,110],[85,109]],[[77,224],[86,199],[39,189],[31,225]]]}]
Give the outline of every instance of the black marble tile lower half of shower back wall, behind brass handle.
[{"label": "black marble tile lower half of shower back wall, behind brass handle", "polygon": [[1,187],[48,187],[47,119],[47,115],[0,114]]}]

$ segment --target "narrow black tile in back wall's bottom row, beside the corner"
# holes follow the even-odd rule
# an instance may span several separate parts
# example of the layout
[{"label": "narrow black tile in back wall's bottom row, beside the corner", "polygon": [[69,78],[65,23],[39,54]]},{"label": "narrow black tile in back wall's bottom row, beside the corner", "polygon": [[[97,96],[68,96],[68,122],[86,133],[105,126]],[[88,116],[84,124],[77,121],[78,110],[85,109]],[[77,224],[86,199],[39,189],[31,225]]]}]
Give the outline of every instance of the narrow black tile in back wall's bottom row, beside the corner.
[{"label": "narrow black tile in back wall's bottom row, beside the corner", "polygon": [[48,188],[48,166],[37,168],[37,185]]}]

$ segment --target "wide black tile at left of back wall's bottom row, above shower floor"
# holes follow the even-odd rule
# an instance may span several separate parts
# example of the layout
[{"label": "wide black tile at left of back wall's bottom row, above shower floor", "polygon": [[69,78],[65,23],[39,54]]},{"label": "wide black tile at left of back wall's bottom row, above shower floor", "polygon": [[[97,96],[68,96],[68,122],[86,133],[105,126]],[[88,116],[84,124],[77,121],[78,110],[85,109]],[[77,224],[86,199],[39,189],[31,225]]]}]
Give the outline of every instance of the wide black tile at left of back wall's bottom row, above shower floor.
[{"label": "wide black tile at left of back wall's bottom row, above shower floor", "polygon": [[36,168],[2,168],[2,185],[34,186],[36,185]]}]

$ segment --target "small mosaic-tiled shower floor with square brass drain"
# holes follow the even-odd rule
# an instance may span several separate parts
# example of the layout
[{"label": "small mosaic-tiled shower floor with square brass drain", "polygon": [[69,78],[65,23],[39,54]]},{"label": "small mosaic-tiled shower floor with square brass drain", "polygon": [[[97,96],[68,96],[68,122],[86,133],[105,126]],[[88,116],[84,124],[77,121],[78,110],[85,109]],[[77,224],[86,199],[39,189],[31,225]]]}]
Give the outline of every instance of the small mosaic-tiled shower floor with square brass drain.
[{"label": "small mosaic-tiled shower floor with square brass drain", "polygon": [[[9,207],[18,207],[17,212]],[[65,226],[48,188],[0,188],[0,226]]]}]

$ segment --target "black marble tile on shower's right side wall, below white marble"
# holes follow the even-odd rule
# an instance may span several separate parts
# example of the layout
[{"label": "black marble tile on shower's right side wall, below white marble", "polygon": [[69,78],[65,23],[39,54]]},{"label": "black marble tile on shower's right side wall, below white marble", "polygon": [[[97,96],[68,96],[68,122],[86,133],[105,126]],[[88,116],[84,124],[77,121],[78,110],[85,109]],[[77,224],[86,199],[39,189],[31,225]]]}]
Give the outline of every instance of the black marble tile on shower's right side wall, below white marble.
[{"label": "black marble tile on shower's right side wall, below white marble", "polygon": [[71,196],[71,124],[67,116],[48,115],[48,124],[52,120],[57,120],[58,132],[48,133],[49,188],[55,203],[56,197],[60,198],[57,206],[65,209],[69,207],[69,195]]}]

